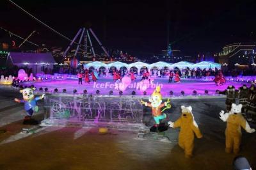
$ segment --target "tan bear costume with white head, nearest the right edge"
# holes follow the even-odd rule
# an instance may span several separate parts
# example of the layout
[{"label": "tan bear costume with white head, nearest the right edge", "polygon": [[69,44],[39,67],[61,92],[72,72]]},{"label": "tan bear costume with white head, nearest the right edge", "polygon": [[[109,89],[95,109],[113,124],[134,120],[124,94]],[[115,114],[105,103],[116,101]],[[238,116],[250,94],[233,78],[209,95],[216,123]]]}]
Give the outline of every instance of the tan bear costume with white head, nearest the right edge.
[{"label": "tan bear costume with white head, nearest the right edge", "polygon": [[226,152],[231,153],[232,150],[234,153],[239,153],[239,148],[241,144],[241,127],[248,133],[255,132],[254,128],[250,128],[248,122],[244,119],[241,114],[241,109],[243,105],[232,104],[231,111],[224,113],[220,112],[220,119],[222,121],[227,121],[226,128]]}]

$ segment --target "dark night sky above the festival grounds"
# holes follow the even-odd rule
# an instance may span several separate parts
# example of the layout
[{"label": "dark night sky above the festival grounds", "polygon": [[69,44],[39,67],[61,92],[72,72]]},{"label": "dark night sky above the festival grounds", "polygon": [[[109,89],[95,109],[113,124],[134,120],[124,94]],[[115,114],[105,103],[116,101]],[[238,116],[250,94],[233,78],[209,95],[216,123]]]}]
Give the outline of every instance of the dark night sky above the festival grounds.
[{"label": "dark night sky above the festival grounds", "polygon": [[[184,55],[219,52],[223,45],[255,42],[256,3],[243,1],[47,1],[13,0],[63,35],[73,38],[91,23],[107,49],[152,56],[166,49],[169,22],[172,49]],[[7,0],[0,2],[1,26],[31,41],[66,48],[68,41]],[[93,42],[96,46],[96,43]]]}]

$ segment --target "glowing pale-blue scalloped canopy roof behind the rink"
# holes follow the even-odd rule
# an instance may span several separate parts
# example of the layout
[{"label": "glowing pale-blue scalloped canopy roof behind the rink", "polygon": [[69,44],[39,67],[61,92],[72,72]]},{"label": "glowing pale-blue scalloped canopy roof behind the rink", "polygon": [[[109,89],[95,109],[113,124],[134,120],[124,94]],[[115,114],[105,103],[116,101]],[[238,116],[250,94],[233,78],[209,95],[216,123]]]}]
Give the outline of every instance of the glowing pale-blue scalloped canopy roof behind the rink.
[{"label": "glowing pale-blue scalloped canopy roof behind the rink", "polygon": [[179,63],[167,63],[167,62],[163,62],[163,61],[158,61],[156,63],[152,63],[152,64],[148,64],[148,63],[143,63],[141,61],[135,62],[135,63],[131,63],[131,64],[127,64],[127,63],[122,63],[120,61],[115,61],[113,63],[102,63],[100,61],[94,61],[92,63],[88,63],[88,64],[84,64],[84,68],[90,68],[93,67],[94,69],[99,70],[99,68],[105,68],[105,70],[110,70],[111,68],[116,68],[116,69],[120,69],[122,67],[127,68],[128,71],[131,70],[131,68],[136,68],[138,70],[138,73],[140,73],[141,68],[147,68],[148,70],[151,69],[170,69],[173,70],[175,68],[179,68],[181,69],[189,69],[189,70],[193,70],[193,69],[197,69],[200,68],[201,70],[209,70],[211,69],[221,69],[221,65],[218,63],[213,63],[211,61],[202,61],[200,63],[189,63],[187,61],[180,61]]}]

